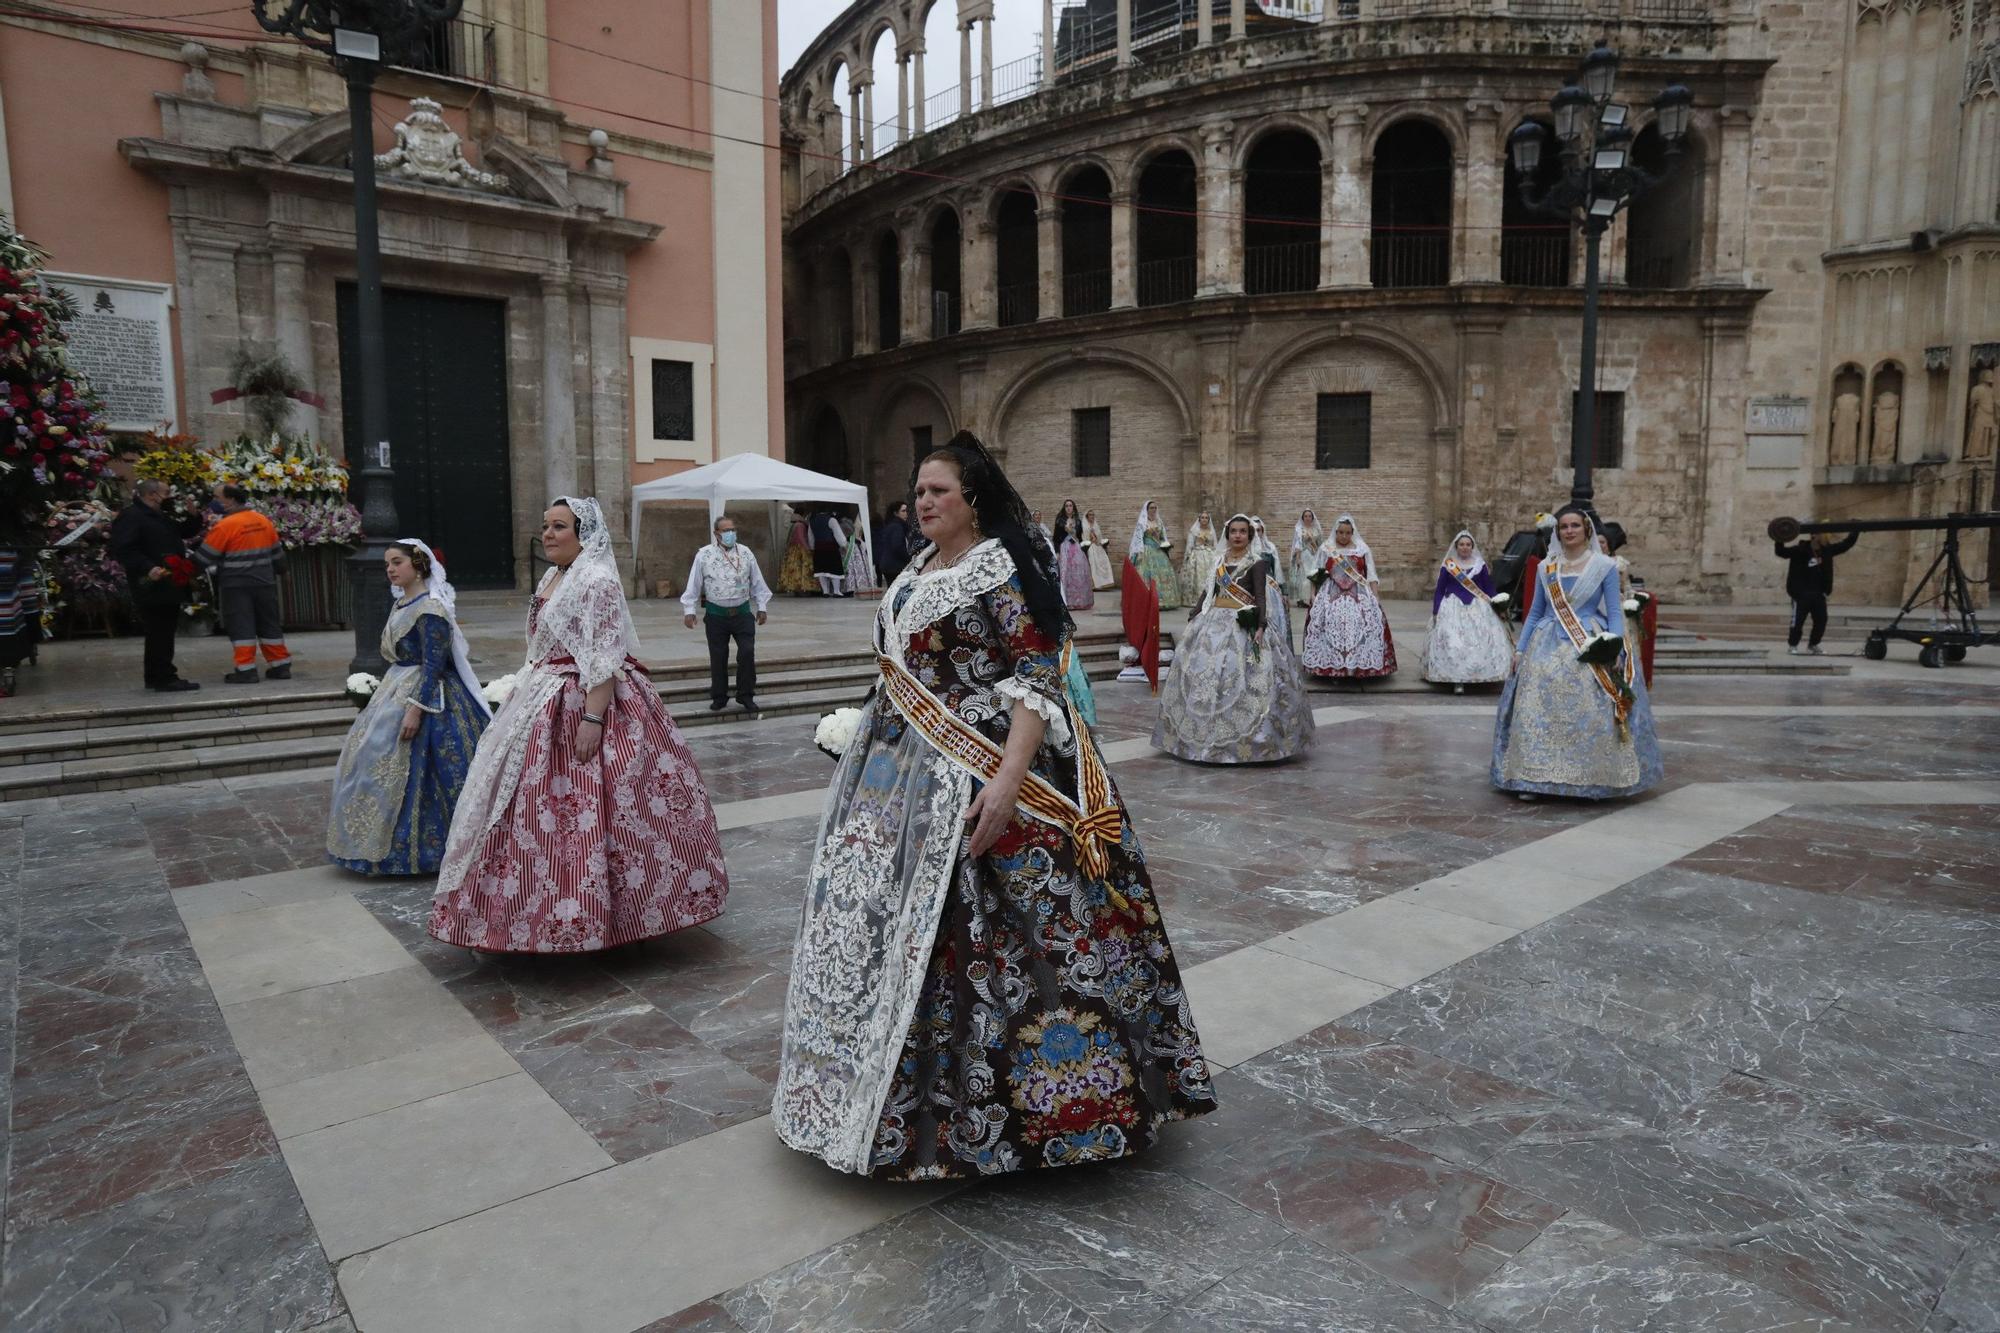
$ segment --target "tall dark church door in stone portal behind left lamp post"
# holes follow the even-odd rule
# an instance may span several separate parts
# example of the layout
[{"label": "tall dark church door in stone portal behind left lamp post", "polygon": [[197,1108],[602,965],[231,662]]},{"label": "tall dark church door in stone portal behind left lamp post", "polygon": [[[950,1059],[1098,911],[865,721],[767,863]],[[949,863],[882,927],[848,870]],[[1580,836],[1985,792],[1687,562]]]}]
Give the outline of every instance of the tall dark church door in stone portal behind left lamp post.
[{"label": "tall dark church door in stone portal behind left lamp post", "polygon": [[[354,286],[340,284],[340,420],[360,504],[364,452]],[[388,434],[398,536],[446,552],[460,588],[514,586],[506,302],[388,288]]]}]

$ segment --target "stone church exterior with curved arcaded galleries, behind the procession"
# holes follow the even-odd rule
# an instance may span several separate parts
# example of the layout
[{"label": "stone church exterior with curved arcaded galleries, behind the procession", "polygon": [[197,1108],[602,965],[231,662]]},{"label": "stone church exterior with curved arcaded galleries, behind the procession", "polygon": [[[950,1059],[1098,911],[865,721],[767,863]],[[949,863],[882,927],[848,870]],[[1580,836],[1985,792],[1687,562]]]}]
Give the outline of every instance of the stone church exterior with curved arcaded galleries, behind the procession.
[{"label": "stone church exterior with curved arcaded galleries, behind the procession", "polygon": [[[924,96],[934,6],[958,98]],[[1606,38],[1662,184],[1604,240],[1596,494],[1648,580],[1780,600],[1776,514],[1992,502],[1990,0],[1040,8],[1026,78],[974,62],[986,0],[850,6],[784,76],[794,460],[890,496],[972,428],[1114,546],[1148,498],[1280,540],[1348,510],[1420,594],[1458,526],[1492,548],[1568,496],[1582,242],[1506,144]],[[1930,546],[1862,550],[1846,600]]]}]

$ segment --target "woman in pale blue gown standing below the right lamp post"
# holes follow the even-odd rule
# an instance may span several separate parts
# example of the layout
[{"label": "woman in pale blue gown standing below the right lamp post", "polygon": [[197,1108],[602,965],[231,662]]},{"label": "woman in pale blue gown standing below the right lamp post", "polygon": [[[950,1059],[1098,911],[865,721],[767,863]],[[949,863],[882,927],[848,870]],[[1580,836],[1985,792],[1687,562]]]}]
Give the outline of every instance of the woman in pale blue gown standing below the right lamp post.
[{"label": "woman in pale blue gown standing below the right lamp post", "polygon": [[1632,797],[1662,777],[1646,681],[1624,650],[1618,564],[1590,526],[1576,504],[1556,510],[1556,550],[1536,570],[1500,693],[1492,783],[1524,801]]}]

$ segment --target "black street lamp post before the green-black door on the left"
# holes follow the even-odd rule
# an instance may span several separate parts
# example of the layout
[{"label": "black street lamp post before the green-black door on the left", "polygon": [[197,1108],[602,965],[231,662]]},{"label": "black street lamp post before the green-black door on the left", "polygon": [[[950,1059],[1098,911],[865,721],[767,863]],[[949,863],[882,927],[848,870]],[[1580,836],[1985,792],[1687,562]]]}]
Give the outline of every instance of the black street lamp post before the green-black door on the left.
[{"label": "black street lamp post before the green-black door on the left", "polygon": [[[354,344],[360,364],[362,544],[348,556],[354,660],[348,671],[380,675],[388,596],[382,550],[396,540],[396,474],[388,444],[388,362],[382,350],[382,236],[376,226],[372,96],[376,70],[458,16],[464,0],[250,0],[258,26],[298,38],[334,58],[348,82],[350,168],[354,170]],[[348,458],[350,472],[356,460]]]}]

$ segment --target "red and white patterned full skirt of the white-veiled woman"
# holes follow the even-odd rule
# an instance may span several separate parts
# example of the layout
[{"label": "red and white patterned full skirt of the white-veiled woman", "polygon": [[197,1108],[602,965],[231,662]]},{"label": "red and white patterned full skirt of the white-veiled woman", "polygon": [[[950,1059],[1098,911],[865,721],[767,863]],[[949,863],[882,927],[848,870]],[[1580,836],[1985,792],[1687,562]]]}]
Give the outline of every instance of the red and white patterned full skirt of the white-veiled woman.
[{"label": "red and white patterned full skirt of the white-veiled woman", "polygon": [[590,953],[722,915],[716,811],[666,705],[626,658],[576,763],[584,687],[564,662],[524,675],[472,761],[430,911],[448,945]]}]

